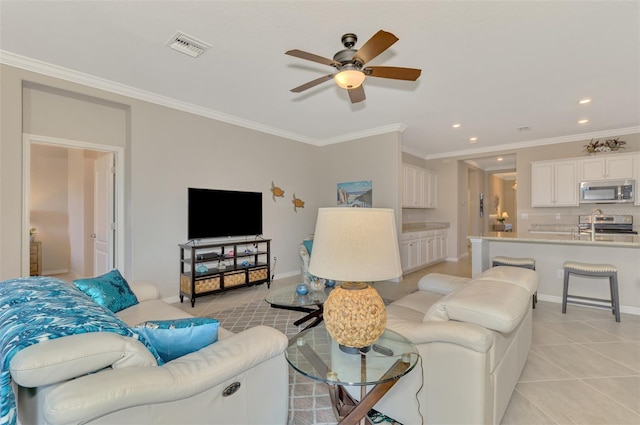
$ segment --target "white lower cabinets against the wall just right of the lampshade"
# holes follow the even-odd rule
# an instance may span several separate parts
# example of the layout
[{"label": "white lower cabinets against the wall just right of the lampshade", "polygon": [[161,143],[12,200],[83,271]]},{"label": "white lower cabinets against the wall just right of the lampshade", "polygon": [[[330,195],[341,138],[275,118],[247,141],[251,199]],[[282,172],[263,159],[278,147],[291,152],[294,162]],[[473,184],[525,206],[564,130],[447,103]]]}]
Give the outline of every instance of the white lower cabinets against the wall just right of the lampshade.
[{"label": "white lower cabinets against the wall just right of the lampshade", "polygon": [[403,233],[400,263],[404,273],[444,261],[447,257],[447,229]]}]

